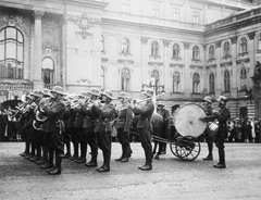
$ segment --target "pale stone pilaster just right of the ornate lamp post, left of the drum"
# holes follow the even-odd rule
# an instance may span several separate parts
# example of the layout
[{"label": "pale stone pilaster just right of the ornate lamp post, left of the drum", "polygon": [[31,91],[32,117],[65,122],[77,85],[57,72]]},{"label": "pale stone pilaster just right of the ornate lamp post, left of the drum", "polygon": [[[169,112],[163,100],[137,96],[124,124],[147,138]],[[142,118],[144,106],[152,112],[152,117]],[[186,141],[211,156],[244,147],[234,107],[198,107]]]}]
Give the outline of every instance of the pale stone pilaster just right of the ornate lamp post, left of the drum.
[{"label": "pale stone pilaster just right of the ornate lamp post, left of the drum", "polygon": [[165,91],[171,91],[170,87],[171,87],[171,82],[169,79],[169,76],[167,74],[169,73],[169,68],[170,68],[170,55],[169,55],[169,52],[170,52],[170,40],[163,40],[163,46],[164,46],[164,49],[163,49],[163,53],[164,53],[164,58],[163,58],[163,82],[162,84],[164,85],[164,88],[165,88]]}]

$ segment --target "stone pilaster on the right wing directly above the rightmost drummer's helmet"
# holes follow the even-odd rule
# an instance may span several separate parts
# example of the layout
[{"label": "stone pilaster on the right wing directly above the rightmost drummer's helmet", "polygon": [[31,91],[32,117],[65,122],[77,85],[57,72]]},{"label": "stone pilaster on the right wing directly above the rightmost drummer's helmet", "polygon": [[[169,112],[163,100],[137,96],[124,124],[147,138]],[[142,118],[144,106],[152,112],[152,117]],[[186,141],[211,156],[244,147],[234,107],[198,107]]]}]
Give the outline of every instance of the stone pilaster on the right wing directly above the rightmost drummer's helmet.
[{"label": "stone pilaster on the right wing directly above the rightmost drummer's helmet", "polygon": [[216,55],[216,73],[215,73],[215,97],[219,97],[221,95],[222,90],[222,80],[221,78],[221,41],[215,42],[215,55]]}]

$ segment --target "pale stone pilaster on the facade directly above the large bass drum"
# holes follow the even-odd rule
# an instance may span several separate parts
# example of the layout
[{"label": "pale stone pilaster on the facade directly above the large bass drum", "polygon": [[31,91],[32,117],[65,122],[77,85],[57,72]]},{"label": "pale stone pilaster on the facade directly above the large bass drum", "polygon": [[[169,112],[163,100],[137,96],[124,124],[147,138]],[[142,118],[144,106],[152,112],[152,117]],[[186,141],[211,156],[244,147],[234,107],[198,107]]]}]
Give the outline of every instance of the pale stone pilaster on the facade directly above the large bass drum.
[{"label": "pale stone pilaster on the facade directly above the large bass drum", "polygon": [[[191,78],[190,78],[190,60],[191,58],[189,57],[189,51],[190,43],[189,42],[184,42],[184,96],[185,98],[190,98],[191,93]],[[190,80],[190,82],[189,82]]]}]

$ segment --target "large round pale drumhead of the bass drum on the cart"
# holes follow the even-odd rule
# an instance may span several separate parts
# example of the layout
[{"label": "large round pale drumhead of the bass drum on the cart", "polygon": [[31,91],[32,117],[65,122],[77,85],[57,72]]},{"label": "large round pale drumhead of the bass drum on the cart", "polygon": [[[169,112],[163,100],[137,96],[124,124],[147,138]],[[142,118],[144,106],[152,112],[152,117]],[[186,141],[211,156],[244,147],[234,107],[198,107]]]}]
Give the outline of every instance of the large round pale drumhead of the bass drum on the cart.
[{"label": "large round pale drumhead of the bass drum on the cart", "polygon": [[174,114],[174,125],[182,136],[199,137],[203,134],[207,122],[200,121],[206,112],[199,104],[186,103],[179,107]]}]

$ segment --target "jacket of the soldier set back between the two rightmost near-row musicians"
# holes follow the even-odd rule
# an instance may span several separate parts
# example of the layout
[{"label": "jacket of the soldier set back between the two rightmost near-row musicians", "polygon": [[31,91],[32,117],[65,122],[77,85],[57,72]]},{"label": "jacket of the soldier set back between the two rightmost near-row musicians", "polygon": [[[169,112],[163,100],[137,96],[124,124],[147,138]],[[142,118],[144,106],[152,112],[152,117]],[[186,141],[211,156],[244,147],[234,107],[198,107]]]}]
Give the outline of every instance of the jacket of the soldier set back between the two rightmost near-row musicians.
[{"label": "jacket of the soldier set back between the two rightmost near-row musicians", "polygon": [[115,124],[116,128],[123,128],[124,132],[129,132],[133,123],[133,111],[130,108],[119,111],[117,121]]}]

